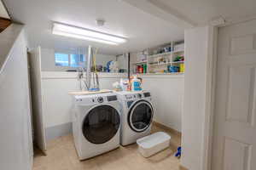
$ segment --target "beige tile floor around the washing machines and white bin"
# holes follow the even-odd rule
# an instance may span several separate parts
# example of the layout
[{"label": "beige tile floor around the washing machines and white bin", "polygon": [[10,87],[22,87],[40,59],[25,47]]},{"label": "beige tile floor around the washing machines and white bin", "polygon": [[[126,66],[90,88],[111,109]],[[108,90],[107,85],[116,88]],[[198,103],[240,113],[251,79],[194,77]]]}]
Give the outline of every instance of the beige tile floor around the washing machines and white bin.
[{"label": "beige tile floor around the washing machines and white bin", "polygon": [[33,170],[178,170],[179,160],[173,155],[181,143],[180,136],[157,126],[152,127],[152,133],[158,131],[170,133],[172,142],[168,149],[149,158],[138,153],[137,144],[131,144],[79,161],[73,136],[63,136],[49,141],[47,156],[35,150]]}]

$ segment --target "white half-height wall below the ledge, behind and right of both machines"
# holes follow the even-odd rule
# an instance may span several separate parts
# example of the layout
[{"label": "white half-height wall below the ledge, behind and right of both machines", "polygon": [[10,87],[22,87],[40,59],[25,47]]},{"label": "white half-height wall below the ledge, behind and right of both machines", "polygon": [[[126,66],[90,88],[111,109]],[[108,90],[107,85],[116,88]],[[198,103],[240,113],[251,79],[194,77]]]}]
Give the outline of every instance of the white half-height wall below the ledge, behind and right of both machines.
[{"label": "white half-height wall below the ledge, behind and right of both machines", "polygon": [[[113,89],[113,82],[118,82],[125,74],[100,73],[102,89]],[[183,75],[150,75],[143,77],[143,88],[153,96],[154,120],[181,132],[183,106]],[[42,72],[43,112],[46,127],[54,127],[71,122],[73,106],[69,92],[79,90],[77,73]]]}]

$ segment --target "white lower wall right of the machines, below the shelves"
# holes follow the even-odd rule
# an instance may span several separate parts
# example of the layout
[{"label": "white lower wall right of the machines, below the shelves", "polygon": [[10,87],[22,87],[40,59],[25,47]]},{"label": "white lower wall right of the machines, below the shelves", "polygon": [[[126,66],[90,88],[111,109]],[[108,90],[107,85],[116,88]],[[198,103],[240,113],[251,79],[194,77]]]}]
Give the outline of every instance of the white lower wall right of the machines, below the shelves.
[{"label": "white lower wall right of the machines, below the shelves", "polygon": [[152,94],[154,121],[181,132],[183,110],[183,75],[143,77],[143,89]]}]

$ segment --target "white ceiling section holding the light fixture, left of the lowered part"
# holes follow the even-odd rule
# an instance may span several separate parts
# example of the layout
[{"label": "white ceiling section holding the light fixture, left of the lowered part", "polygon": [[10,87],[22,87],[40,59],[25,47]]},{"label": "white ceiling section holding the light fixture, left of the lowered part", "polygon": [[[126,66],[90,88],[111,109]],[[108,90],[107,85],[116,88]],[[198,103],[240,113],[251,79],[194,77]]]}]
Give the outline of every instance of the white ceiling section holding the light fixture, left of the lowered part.
[{"label": "white ceiling section holding the light fixture, left of the lowered part", "polygon": [[[12,19],[26,25],[30,48],[73,49],[91,44],[101,54],[122,54],[183,39],[183,28],[120,0],[3,1]],[[96,19],[106,20],[106,25],[96,26]],[[52,21],[127,37],[128,42],[110,46],[52,35]]]}]

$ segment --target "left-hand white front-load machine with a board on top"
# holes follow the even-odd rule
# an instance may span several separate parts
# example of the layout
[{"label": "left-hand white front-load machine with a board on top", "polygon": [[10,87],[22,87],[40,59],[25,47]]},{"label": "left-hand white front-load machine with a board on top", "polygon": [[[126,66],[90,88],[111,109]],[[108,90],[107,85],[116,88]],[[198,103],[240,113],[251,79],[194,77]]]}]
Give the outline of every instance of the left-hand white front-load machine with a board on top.
[{"label": "left-hand white front-load machine with a board on top", "polygon": [[80,160],[119,147],[120,109],[114,93],[74,96],[73,137]]}]

